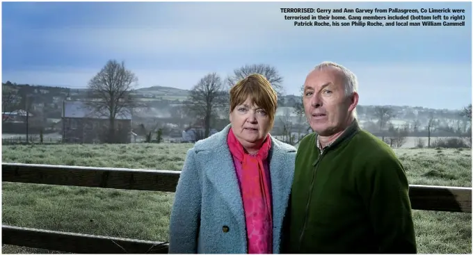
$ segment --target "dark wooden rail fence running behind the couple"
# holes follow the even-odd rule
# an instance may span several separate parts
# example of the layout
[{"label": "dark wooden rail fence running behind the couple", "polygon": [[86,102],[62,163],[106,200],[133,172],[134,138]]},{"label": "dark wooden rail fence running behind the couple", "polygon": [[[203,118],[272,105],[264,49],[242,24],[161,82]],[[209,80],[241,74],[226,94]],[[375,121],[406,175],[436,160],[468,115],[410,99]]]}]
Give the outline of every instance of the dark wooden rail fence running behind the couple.
[{"label": "dark wooden rail fence running behind the couple", "polygon": [[[2,163],[2,181],[175,192],[179,171]],[[472,213],[472,188],[410,185],[412,209]],[[166,254],[166,242],[2,225],[2,244],[82,254]]]}]

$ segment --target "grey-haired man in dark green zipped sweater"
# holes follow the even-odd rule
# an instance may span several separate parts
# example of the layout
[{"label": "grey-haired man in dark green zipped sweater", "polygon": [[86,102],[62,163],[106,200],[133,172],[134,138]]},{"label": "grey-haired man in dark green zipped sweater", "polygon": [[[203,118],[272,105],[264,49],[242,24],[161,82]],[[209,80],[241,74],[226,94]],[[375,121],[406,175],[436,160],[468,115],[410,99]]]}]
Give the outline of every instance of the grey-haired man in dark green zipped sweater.
[{"label": "grey-haired man in dark green zipped sweater", "polygon": [[314,133],[296,154],[284,253],[417,253],[406,174],[392,149],[358,126],[357,86],[335,63],[305,79]]}]

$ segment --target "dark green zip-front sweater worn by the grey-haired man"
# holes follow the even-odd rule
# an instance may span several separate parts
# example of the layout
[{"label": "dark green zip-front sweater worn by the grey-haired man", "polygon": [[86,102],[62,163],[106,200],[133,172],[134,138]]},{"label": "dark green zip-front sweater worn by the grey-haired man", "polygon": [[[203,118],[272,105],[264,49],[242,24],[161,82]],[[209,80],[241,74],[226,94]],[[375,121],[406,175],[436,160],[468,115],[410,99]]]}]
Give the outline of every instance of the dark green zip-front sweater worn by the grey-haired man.
[{"label": "dark green zip-front sweater worn by the grey-haired man", "polygon": [[403,166],[356,121],[323,153],[300,141],[287,220],[284,253],[417,253]]}]

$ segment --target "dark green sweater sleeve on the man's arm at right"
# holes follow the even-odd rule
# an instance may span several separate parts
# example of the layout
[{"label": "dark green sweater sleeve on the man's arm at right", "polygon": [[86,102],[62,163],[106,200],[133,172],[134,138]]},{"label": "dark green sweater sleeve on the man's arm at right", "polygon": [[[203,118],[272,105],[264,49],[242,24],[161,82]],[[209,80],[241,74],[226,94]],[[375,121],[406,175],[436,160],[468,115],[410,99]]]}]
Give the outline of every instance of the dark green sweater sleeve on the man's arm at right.
[{"label": "dark green sweater sleeve on the man's arm at right", "polygon": [[415,254],[414,224],[406,173],[395,155],[371,158],[357,186],[381,254]]}]

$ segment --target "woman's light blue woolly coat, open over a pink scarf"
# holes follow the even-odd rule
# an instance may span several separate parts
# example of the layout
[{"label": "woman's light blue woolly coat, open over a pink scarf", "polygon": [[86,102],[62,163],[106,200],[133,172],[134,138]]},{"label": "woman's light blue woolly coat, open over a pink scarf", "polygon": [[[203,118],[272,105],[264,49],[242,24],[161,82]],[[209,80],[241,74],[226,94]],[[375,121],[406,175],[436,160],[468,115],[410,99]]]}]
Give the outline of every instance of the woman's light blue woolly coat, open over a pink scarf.
[{"label": "woman's light blue woolly coat, open over a pink scarf", "polygon": [[[169,253],[246,254],[246,224],[227,134],[195,143],[186,156],[170,215]],[[282,220],[294,175],[296,148],[271,138],[273,253],[280,251]],[[223,231],[223,227],[228,231]]]}]

